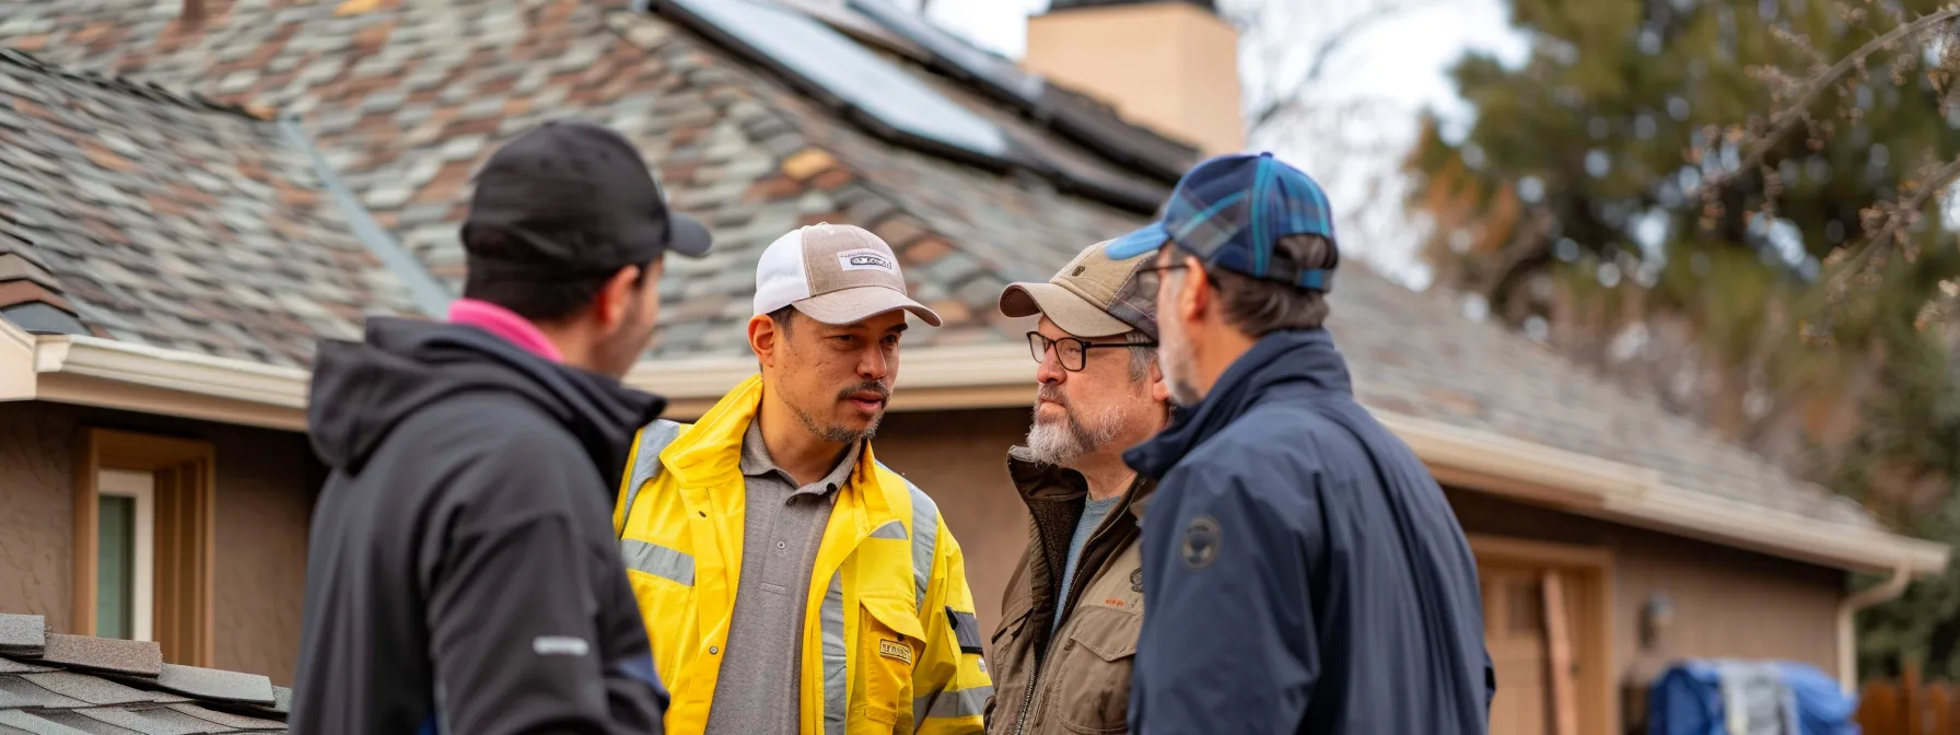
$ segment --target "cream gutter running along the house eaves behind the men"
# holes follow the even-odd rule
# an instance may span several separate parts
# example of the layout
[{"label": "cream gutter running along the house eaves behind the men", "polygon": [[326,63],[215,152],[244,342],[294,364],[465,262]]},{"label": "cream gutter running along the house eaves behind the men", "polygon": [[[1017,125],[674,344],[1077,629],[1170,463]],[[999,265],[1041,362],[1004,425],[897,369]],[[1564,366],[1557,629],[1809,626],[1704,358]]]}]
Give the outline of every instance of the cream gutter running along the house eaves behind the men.
[{"label": "cream gutter running along the house eaves behind the men", "polygon": [[[4,321],[0,329],[6,329]],[[41,335],[33,339],[25,374],[29,386],[22,390],[24,349],[18,335],[10,335],[0,331],[0,400],[51,400],[306,429],[308,372],[300,368],[112,339]],[[749,374],[755,374],[751,357],[700,357],[641,363],[625,382],[666,396],[668,416],[692,419]],[[1025,408],[1033,386],[1035,363],[1019,347],[917,347],[904,355],[892,410]],[[1946,568],[1950,555],[1940,543],[1676,488],[1648,468],[1392,412],[1374,414],[1409,443],[1441,482],[1464,490],[1831,568],[1935,574]]]}]

